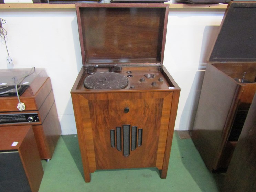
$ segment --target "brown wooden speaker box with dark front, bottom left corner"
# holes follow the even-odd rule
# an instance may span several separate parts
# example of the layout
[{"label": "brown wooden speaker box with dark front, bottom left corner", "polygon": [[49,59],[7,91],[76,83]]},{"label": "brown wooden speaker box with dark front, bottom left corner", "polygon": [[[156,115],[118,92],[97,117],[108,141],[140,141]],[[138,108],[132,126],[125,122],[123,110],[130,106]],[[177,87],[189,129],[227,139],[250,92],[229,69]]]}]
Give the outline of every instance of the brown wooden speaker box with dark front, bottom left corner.
[{"label": "brown wooden speaker box with dark front, bottom left corner", "polygon": [[43,167],[31,125],[0,127],[0,191],[39,190]]}]

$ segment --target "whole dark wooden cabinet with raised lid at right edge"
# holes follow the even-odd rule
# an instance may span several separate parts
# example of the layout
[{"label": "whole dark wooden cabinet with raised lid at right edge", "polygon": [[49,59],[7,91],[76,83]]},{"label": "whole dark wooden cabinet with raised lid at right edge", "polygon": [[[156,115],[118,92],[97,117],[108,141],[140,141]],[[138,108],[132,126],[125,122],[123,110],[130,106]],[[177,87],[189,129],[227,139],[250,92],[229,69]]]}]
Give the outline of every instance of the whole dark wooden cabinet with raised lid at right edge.
[{"label": "whole dark wooden cabinet with raised lid at right edge", "polygon": [[255,11],[228,5],[206,67],[192,140],[211,171],[226,171],[256,91]]}]

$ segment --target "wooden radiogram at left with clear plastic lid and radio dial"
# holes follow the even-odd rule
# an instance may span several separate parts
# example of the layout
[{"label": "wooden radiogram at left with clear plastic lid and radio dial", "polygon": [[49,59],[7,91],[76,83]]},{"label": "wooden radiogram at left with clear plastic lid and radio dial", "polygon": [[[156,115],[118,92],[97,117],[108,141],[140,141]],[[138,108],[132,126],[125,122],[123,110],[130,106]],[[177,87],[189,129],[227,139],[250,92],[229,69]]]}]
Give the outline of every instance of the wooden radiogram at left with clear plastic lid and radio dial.
[{"label": "wooden radiogram at left with clear plastic lid and radio dial", "polygon": [[[29,70],[0,70],[1,81],[8,81],[7,79],[26,74],[27,71]],[[44,69],[39,68],[23,82],[29,82],[28,88],[20,96],[21,102],[25,103],[25,110],[17,109],[17,96],[0,95],[0,127],[32,125],[40,157],[49,160],[61,134],[51,79]]]}]

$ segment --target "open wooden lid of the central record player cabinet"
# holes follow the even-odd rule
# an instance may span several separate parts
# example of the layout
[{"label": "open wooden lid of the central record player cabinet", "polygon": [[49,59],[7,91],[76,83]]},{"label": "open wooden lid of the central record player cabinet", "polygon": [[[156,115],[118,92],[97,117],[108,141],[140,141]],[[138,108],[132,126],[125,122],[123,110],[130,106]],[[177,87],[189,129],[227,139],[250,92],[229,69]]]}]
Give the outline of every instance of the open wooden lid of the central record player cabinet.
[{"label": "open wooden lid of the central record player cabinet", "polygon": [[168,4],[76,4],[82,62],[162,64]]}]

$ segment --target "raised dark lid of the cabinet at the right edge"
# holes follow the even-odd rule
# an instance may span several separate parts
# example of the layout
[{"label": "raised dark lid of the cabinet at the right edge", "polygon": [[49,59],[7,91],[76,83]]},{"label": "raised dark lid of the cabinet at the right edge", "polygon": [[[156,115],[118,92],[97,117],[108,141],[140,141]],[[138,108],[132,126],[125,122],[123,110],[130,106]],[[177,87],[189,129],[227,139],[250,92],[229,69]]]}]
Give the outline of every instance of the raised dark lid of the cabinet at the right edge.
[{"label": "raised dark lid of the cabinet at the right edge", "polygon": [[256,2],[228,4],[209,62],[256,61]]}]

